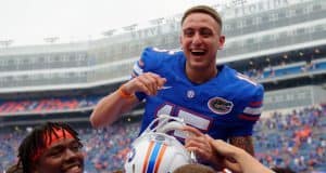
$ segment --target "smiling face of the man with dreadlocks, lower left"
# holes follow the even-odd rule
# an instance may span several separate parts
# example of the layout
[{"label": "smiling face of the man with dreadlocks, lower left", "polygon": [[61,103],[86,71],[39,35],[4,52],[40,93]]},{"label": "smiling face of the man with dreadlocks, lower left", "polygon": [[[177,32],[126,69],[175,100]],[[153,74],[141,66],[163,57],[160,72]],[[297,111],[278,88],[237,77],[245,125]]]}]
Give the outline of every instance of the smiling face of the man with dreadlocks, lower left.
[{"label": "smiling face of the man with dreadlocks, lower left", "polygon": [[82,144],[75,138],[62,138],[51,144],[36,160],[36,173],[83,173]]}]

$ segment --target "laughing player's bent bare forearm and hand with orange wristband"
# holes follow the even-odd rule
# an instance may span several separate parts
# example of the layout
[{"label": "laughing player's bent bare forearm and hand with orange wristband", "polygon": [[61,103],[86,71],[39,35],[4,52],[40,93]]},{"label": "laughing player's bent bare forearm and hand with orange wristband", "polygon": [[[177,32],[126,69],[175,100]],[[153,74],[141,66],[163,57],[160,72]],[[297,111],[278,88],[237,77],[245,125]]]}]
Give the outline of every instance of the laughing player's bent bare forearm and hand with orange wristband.
[{"label": "laughing player's bent bare forearm and hand with orange wristband", "polygon": [[131,96],[124,97],[121,91],[117,90],[103,97],[95,107],[90,116],[90,123],[95,128],[112,124],[122,114],[131,110],[139,103],[139,99],[135,95],[136,92],[155,95],[165,81],[165,78],[153,72],[145,72],[133,78],[120,88],[123,93]]}]

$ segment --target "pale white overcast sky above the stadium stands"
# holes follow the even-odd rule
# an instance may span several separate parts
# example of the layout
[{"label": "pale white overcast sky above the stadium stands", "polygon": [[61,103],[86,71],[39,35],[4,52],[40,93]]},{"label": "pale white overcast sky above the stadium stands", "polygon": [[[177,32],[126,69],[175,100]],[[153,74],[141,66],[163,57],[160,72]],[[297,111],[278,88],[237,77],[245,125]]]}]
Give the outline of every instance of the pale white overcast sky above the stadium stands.
[{"label": "pale white overcast sky above the stadium stands", "polygon": [[[106,30],[183,13],[224,0],[0,0],[0,42],[45,44],[103,38]],[[0,45],[1,46],[1,45]]]}]

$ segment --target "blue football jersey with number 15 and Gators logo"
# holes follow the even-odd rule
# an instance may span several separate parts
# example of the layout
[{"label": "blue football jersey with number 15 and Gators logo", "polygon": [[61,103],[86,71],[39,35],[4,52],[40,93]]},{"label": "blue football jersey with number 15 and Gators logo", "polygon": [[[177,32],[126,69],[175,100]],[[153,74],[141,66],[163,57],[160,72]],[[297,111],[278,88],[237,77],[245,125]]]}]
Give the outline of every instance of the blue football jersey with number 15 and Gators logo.
[{"label": "blue football jersey with number 15 and Gators logo", "polygon": [[[180,117],[214,138],[252,134],[253,124],[262,112],[264,89],[226,65],[216,66],[215,78],[201,84],[189,81],[185,74],[183,51],[147,48],[135,64],[133,76],[154,72],[166,78],[155,96],[136,93],[146,99],[141,132],[158,115]],[[183,134],[174,134],[184,138]]]}]

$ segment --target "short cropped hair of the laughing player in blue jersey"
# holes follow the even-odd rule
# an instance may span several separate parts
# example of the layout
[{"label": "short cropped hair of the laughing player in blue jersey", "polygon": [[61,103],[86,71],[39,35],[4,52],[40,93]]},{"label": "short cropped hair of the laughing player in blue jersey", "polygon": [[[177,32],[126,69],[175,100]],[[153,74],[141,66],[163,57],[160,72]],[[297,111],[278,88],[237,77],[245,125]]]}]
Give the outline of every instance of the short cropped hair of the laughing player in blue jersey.
[{"label": "short cropped hair of the laughing player in blue jersey", "polygon": [[211,17],[214,18],[214,21],[221,26],[222,28],[222,18],[221,15],[216,12],[215,9],[208,6],[208,5],[196,5],[190,9],[188,9],[181,18],[181,25],[184,24],[185,19],[192,13],[204,13],[210,15]]}]

